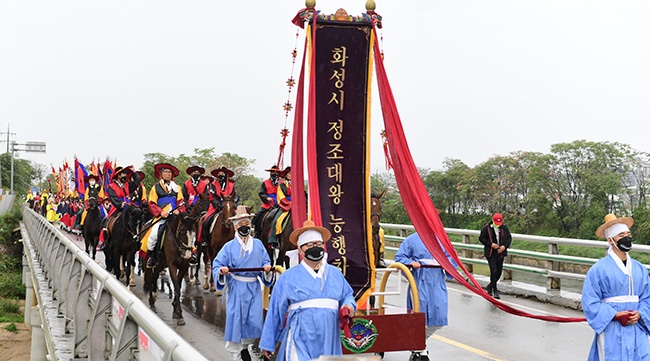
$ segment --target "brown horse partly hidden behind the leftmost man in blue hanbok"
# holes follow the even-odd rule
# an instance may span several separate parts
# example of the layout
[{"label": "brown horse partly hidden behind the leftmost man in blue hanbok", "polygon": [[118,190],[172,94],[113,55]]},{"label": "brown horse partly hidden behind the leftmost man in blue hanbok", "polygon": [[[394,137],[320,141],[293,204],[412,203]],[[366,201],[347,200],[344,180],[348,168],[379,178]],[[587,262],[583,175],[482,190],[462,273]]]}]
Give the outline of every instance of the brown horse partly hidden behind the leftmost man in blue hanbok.
[{"label": "brown horse partly hidden behind the leftmost man in blue hanbok", "polygon": [[[210,244],[206,250],[203,250],[203,289],[210,289],[210,292],[217,291],[212,278],[212,261],[217,257],[224,244],[235,238],[235,227],[229,218],[235,215],[237,196],[233,194],[223,197],[221,207],[221,211],[214,217],[213,226],[210,227]],[[217,295],[221,295],[221,292],[217,292]]]}]

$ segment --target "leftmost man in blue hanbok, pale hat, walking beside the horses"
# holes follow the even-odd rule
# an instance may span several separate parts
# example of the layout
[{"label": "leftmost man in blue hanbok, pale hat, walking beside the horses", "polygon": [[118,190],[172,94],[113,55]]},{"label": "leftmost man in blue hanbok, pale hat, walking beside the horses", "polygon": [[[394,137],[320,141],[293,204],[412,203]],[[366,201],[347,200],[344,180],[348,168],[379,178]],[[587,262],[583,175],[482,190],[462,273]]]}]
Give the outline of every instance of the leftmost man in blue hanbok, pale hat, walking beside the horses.
[{"label": "leftmost man in blue hanbok, pale hat, walking beside the horses", "polygon": [[236,231],[235,238],[221,248],[212,262],[212,276],[217,280],[217,289],[226,288],[224,340],[226,351],[230,352],[233,361],[242,360],[244,350],[252,359],[257,359],[253,344],[262,335],[264,323],[259,279],[268,287],[273,281],[273,274],[269,273],[269,255],[262,241],[251,235],[253,216],[248,214],[246,206],[237,207],[235,215],[229,218]]}]

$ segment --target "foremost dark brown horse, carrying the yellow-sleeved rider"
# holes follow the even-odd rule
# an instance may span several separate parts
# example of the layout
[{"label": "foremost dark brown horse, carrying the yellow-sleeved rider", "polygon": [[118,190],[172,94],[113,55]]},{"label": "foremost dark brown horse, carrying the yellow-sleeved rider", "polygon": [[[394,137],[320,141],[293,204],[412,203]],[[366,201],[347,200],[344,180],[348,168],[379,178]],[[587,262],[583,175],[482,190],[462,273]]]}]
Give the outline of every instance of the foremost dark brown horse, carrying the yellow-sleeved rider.
[{"label": "foremost dark brown horse, carrying the yellow-sleeved rider", "polygon": [[149,307],[156,311],[156,298],[158,296],[158,278],[160,273],[168,268],[169,277],[174,286],[174,299],[172,306],[174,308],[172,317],[175,318],[176,324],[182,326],[185,324],[183,319],[183,310],[181,308],[181,285],[189,269],[189,259],[192,255],[192,240],[194,239],[194,223],[196,219],[187,213],[170,215],[167,222],[161,227],[162,237],[161,252],[165,255],[159,259],[155,268],[145,268],[144,271],[144,290],[149,293]]}]

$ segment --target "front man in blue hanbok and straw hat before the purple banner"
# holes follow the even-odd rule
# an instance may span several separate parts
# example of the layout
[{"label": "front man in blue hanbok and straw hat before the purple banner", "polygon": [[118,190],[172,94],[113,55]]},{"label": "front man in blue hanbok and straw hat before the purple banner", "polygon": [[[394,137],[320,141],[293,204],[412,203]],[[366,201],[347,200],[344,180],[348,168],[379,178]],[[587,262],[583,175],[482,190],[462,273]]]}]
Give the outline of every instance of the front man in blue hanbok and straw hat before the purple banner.
[{"label": "front man in blue hanbok and straw hat before the purple banner", "polygon": [[327,264],[329,239],[329,230],[309,220],[291,233],[289,240],[303,260],[278,277],[273,288],[260,340],[266,357],[278,342],[277,361],[342,354],[339,313],[354,314],[356,302],[341,271]]}]

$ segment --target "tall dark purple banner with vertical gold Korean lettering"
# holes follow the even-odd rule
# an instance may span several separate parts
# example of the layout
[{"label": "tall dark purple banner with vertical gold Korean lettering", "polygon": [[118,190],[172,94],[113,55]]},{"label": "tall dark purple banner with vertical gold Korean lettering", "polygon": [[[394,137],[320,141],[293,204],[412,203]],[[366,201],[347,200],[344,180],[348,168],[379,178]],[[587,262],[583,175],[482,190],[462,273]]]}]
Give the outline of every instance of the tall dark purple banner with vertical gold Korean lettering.
[{"label": "tall dark purple banner with vertical gold Korean lettering", "polygon": [[371,27],[318,23],[316,149],[323,226],[332,232],[328,262],[360,298],[374,283],[370,266],[369,64]]}]

